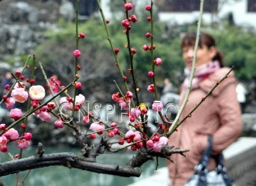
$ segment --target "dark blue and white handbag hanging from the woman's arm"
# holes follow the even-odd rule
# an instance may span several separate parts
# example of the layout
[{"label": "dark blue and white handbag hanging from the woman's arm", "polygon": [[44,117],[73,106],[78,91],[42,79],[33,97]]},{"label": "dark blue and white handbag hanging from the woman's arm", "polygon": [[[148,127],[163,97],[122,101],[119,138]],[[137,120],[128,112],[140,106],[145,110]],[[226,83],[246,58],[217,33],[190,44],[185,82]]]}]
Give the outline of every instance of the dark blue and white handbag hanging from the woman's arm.
[{"label": "dark blue and white handbag hanging from the woman's arm", "polygon": [[199,164],[195,166],[195,173],[188,182],[186,186],[232,186],[232,180],[226,173],[226,168],[224,167],[224,160],[222,153],[214,156],[216,161],[216,169],[214,171],[208,171],[206,169],[209,159],[211,157],[212,150],[212,136],[208,138],[208,146],[205,148],[204,153],[199,160]]}]

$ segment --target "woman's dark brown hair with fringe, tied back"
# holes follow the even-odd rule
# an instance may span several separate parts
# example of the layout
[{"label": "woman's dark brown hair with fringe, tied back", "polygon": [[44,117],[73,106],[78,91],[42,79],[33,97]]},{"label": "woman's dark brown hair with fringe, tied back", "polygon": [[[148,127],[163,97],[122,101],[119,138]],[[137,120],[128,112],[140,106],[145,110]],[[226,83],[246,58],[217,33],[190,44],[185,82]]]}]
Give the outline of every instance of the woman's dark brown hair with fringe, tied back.
[{"label": "woman's dark brown hair with fringe, tied back", "polygon": [[[186,33],[186,35],[182,38],[181,49],[184,47],[195,47],[196,43],[196,33]],[[198,47],[202,48],[203,45],[206,45],[208,49],[211,47],[215,47],[214,38],[207,33],[200,33],[200,38],[198,42]],[[219,50],[216,50],[216,55],[212,58],[212,61],[219,61],[220,66],[223,67],[223,54]]]}]

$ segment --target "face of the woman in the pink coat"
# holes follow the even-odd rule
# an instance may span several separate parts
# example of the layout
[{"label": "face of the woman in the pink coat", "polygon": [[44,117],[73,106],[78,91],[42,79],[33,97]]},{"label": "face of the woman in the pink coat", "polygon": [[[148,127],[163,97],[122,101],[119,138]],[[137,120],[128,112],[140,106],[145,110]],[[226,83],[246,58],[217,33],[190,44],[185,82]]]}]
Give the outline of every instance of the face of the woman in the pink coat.
[{"label": "face of the woman in the pink coat", "polygon": [[[192,68],[193,62],[193,54],[194,54],[194,47],[188,46],[182,49],[182,57],[186,63],[187,68]],[[196,53],[196,64],[195,66],[198,67],[203,65],[204,63],[209,63],[212,61],[212,58],[216,55],[216,48],[210,47],[207,48],[206,45],[202,47],[198,47]]]}]

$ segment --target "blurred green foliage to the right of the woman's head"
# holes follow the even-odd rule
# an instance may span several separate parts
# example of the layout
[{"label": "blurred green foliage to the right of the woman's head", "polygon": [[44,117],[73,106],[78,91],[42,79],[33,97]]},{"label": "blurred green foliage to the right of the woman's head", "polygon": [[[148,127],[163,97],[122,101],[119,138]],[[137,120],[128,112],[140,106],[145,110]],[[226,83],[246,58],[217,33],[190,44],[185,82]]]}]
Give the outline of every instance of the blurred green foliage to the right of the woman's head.
[{"label": "blurred green foliage to the right of the woman's head", "polygon": [[236,76],[241,80],[255,77],[256,36],[237,27],[214,31],[218,49],[224,54],[225,65],[235,65]]}]

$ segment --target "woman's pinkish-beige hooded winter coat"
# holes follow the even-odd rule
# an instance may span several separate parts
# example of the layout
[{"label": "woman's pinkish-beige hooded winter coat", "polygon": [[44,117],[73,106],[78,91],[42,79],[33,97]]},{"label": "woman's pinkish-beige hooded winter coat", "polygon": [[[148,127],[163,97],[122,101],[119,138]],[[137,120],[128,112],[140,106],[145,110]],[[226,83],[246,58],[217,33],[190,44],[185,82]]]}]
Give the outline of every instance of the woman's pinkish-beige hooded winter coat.
[{"label": "woman's pinkish-beige hooded winter coat", "polygon": [[[191,91],[181,119],[200,102],[216,82],[227,74],[228,70],[230,68],[220,68],[200,82],[200,88]],[[180,100],[184,99],[184,95],[185,91],[182,91]],[[234,72],[231,72],[228,78],[214,89],[212,95],[193,112],[191,118],[180,125],[178,132],[174,132],[170,136],[170,144],[181,149],[189,149],[189,152],[186,153],[187,157],[171,156],[175,164],[168,161],[172,186],[184,185],[194,173],[194,167],[198,164],[202,151],[207,146],[209,135],[213,135],[212,154],[216,155],[236,141],[241,134],[241,128],[241,109],[237,102],[236,79]],[[211,170],[215,167],[215,162],[211,159],[208,169]]]}]

